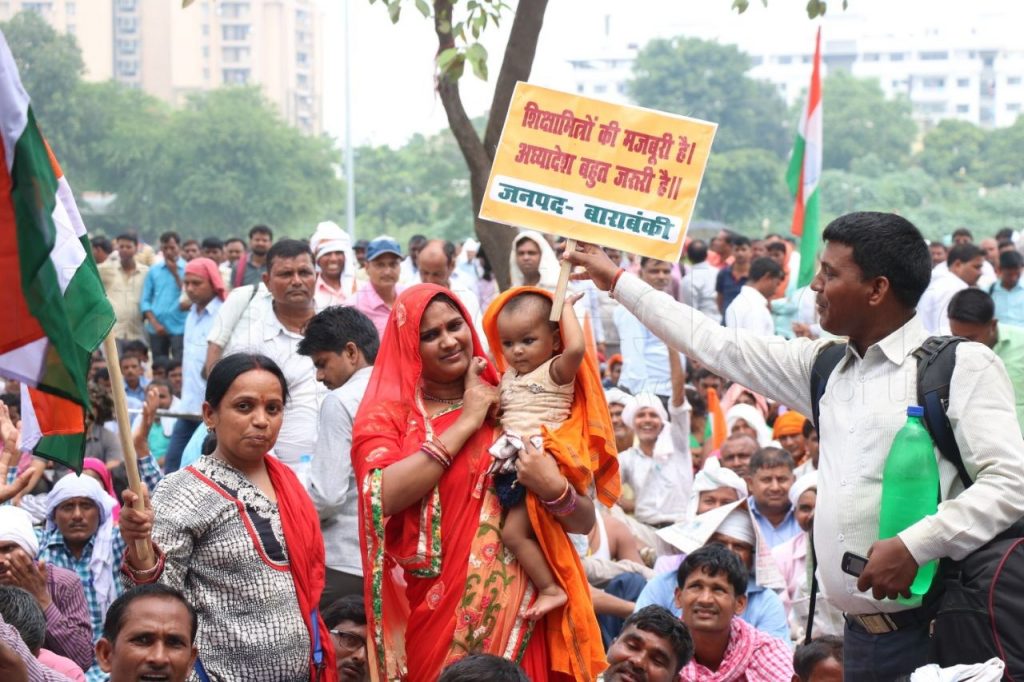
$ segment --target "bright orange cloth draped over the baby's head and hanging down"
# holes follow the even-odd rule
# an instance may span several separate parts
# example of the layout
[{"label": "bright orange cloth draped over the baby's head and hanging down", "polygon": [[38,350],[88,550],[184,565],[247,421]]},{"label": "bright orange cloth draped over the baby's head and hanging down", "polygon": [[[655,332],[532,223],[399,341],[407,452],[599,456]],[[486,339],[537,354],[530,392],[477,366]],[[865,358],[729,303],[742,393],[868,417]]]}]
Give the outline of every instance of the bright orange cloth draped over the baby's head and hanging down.
[{"label": "bright orange cloth draped over the baby's head and hanging down", "polygon": [[[516,287],[503,292],[483,314],[483,331],[490,347],[498,351],[495,360],[503,372],[507,363],[500,353],[498,314],[512,298],[524,293],[554,298],[544,289]],[[609,507],[614,504],[620,493],[615,434],[592,351],[584,355],[577,373],[569,418],[556,429],[542,428],[542,434],[545,450],[554,456],[559,470],[578,493],[589,494],[593,484],[600,502]],[[565,530],[536,495],[526,496],[526,509],[548,565],[568,596],[565,606],[545,619],[551,670],[574,680],[594,680],[607,663],[580,556]]]}]

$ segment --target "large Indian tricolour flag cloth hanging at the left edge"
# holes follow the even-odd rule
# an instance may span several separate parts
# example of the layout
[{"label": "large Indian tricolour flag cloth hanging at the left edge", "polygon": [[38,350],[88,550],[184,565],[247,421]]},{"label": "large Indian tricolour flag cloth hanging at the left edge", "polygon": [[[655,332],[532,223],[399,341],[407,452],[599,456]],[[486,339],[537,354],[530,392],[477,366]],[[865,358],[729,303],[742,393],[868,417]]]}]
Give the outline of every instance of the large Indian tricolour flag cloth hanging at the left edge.
[{"label": "large Indian tricolour flag cloth hanging at the left edge", "polygon": [[0,143],[0,376],[23,382],[23,450],[81,469],[89,356],[114,310],[2,33]]}]

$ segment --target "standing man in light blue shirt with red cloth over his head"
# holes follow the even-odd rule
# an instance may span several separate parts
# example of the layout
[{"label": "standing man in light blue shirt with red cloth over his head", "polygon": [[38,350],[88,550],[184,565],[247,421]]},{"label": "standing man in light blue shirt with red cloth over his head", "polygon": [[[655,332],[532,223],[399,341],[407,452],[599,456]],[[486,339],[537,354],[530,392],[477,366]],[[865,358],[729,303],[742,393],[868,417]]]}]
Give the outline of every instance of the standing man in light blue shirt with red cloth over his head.
[{"label": "standing man in light blue shirt with red cloth over his head", "polygon": [[[223,303],[225,287],[220,268],[209,258],[194,258],[189,261],[185,267],[183,284],[185,295],[191,301],[191,308],[185,318],[179,409],[183,413],[200,414],[206,396],[206,375],[203,372],[206,365],[206,339],[213,327],[213,318]],[[179,468],[181,453],[199,425],[199,421],[190,419],[179,419],[174,423],[164,460],[164,470],[167,473]]]}]

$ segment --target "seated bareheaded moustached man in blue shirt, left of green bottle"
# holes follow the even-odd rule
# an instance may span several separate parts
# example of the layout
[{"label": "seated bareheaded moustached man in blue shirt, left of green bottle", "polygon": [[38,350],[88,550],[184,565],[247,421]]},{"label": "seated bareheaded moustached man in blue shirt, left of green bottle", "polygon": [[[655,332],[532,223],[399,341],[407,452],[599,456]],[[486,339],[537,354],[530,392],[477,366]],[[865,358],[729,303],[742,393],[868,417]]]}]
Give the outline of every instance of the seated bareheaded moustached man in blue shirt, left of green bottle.
[{"label": "seated bareheaded moustached man in blue shirt, left of green bottle", "polygon": [[790,502],[790,488],[796,480],[794,468],[793,456],[781,447],[762,447],[751,458],[748,504],[769,547],[800,535]]}]

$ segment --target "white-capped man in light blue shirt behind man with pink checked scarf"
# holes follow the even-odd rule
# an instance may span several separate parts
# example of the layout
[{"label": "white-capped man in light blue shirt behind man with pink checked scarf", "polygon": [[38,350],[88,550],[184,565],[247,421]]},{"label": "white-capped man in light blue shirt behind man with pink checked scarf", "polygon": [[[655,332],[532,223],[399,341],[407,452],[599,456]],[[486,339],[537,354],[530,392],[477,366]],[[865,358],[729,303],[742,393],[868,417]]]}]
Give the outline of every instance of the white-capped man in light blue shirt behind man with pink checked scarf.
[{"label": "white-capped man in light blue shirt behind man with pink checked scarf", "polygon": [[[724,510],[712,510],[711,513],[715,513],[716,511],[724,513]],[[754,527],[754,521],[751,520],[751,513],[744,504],[738,503],[725,516],[715,531],[708,538],[705,546],[708,545],[722,545],[734,552],[742,561],[746,572],[754,578],[746,586],[746,608],[740,617],[772,637],[778,637],[783,640],[788,639],[790,624],[785,619],[785,609],[782,607],[782,601],[772,590],[766,589],[756,582],[757,576],[755,574],[754,566],[757,556],[758,537]],[[682,563],[680,563],[680,567],[682,567]],[[659,573],[647,583],[647,587],[640,593],[640,596],[636,600],[636,610],[640,610],[649,604],[657,604],[668,608],[676,616],[681,617],[683,614],[682,604],[676,600],[677,588],[680,586],[678,570],[669,570]]]}]

